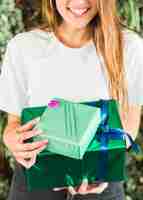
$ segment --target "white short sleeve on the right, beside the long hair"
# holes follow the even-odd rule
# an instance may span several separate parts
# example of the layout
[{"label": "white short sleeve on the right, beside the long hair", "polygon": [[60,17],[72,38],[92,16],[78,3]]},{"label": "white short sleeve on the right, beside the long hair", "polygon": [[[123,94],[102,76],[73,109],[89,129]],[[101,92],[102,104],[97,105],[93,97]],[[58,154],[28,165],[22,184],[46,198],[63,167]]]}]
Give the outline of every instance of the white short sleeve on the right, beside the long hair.
[{"label": "white short sleeve on the right, beside the long hair", "polygon": [[128,98],[131,105],[143,105],[143,38],[134,36],[127,63]]}]

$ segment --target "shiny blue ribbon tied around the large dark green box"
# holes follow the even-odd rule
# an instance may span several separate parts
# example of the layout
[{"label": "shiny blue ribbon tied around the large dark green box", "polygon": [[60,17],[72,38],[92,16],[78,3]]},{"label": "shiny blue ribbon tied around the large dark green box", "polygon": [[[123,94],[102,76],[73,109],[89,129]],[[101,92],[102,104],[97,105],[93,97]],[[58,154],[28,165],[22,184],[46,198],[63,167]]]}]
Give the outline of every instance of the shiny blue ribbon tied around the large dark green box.
[{"label": "shiny blue ribbon tied around the large dark green box", "polygon": [[[126,142],[126,137],[128,138],[131,147],[136,153],[138,153],[139,147],[134,143],[132,137],[120,128],[110,128],[108,125],[108,101],[101,101],[101,119],[100,131],[95,135],[96,139],[100,142],[100,152],[99,152],[99,164],[97,166],[97,180],[105,180],[108,170],[108,143],[109,140],[124,140]],[[92,106],[96,106],[95,102],[87,103]]]}]

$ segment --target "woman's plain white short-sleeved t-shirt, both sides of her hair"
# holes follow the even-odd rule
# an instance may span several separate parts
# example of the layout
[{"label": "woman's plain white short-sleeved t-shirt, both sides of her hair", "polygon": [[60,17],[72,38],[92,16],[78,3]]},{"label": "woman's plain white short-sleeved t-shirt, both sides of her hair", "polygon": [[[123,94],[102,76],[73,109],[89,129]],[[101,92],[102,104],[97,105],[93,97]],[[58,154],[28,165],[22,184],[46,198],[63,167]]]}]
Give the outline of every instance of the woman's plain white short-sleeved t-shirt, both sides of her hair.
[{"label": "woman's plain white short-sleeved t-shirt, both sides of her hair", "polygon": [[[143,105],[143,39],[131,31],[124,32],[124,55],[129,102]],[[45,106],[53,97],[109,99],[102,64],[92,42],[70,48],[54,33],[19,33],[9,41],[2,64],[0,110],[20,116],[24,107]]]}]

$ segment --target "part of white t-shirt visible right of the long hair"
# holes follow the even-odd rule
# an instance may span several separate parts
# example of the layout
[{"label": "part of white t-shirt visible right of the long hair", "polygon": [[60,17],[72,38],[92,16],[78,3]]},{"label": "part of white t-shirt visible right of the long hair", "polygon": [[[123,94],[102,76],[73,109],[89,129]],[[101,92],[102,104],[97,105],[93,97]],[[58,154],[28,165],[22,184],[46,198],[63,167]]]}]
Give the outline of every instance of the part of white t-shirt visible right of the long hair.
[{"label": "part of white t-shirt visible right of the long hair", "polygon": [[129,103],[143,105],[143,38],[130,30],[124,32],[124,61]]}]

